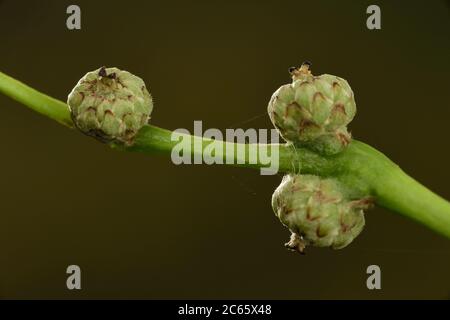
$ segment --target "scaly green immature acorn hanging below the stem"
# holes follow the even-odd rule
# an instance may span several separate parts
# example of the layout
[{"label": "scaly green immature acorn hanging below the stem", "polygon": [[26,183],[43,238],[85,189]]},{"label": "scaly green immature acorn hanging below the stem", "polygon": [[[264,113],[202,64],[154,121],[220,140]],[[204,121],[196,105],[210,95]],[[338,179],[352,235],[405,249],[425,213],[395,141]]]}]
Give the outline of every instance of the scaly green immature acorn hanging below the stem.
[{"label": "scaly green immature acorn hanging below the stem", "polygon": [[364,227],[363,209],[370,198],[349,200],[334,179],[313,175],[286,175],[272,196],[275,215],[291,232],[286,244],[303,252],[307,245],[341,249]]}]

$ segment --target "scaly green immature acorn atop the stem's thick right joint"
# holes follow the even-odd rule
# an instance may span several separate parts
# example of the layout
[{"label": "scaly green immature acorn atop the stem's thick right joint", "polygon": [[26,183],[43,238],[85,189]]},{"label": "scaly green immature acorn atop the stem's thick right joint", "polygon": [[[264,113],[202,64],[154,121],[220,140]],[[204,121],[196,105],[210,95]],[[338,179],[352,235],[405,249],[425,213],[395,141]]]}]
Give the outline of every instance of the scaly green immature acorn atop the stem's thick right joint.
[{"label": "scaly green immature acorn atop the stem's thick right joint", "polygon": [[347,125],[356,113],[353,91],[342,78],[313,76],[310,66],[305,62],[289,69],[293,81],[272,95],[268,113],[286,141],[335,154],[351,141]]}]

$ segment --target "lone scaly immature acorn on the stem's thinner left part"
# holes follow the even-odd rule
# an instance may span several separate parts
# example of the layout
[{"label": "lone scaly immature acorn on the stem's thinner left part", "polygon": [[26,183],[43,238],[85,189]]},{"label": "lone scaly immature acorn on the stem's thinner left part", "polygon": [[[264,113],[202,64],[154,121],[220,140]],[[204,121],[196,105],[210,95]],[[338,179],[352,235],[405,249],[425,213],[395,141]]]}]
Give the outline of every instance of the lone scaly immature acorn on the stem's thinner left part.
[{"label": "lone scaly immature acorn on the stem's thinner left part", "polygon": [[148,123],[153,110],[152,97],[141,78],[105,67],[88,72],[67,103],[73,122],[83,133],[127,145]]}]

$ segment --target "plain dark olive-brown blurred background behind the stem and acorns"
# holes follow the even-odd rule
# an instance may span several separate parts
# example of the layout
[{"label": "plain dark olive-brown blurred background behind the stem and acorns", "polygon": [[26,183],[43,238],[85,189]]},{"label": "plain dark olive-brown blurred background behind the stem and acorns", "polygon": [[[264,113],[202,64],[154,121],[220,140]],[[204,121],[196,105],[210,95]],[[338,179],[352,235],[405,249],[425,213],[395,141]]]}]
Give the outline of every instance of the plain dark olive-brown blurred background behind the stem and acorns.
[{"label": "plain dark olive-brown blurred background behind the stem and acorns", "polygon": [[[271,94],[309,59],[351,84],[357,139],[450,198],[447,2],[76,1],[69,31],[71,3],[0,0],[0,70],[65,100],[117,66],[146,81],[154,124],[224,130],[271,128]],[[115,152],[3,95],[0,120],[1,298],[450,297],[450,242],[387,210],[346,249],[300,256],[270,206],[281,176]]]}]

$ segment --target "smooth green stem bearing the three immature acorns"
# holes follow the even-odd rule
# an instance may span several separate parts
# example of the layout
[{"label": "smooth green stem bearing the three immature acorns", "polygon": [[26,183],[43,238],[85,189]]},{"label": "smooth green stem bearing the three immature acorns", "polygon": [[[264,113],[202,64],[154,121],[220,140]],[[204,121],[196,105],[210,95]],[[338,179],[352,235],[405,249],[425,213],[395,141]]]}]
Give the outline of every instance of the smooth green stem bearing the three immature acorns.
[{"label": "smooth green stem bearing the three immature acorns", "polygon": [[[64,102],[44,95],[1,72],[0,92],[65,126],[73,127],[69,109]],[[172,131],[148,125],[141,129],[133,146],[113,147],[124,151],[170,155],[173,147],[178,144],[178,139],[172,137]],[[183,137],[191,141],[191,155],[194,157],[201,156],[204,148],[213,142],[191,135]],[[378,205],[450,238],[450,203],[409,177],[381,152],[360,141],[352,141],[345,151],[329,157],[288,144],[215,143],[218,143],[217,149],[222,150],[223,159],[225,150],[232,148],[235,151],[233,165],[250,168],[266,166],[259,157],[256,163],[251,163],[250,155],[278,147],[279,172],[297,172],[301,167],[302,173],[334,177],[347,186],[350,196],[357,198],[371,195]],[[200,148],[196,149],[195,145],[200,145]],[[240,147],[245,150],[241,155],[236,152]],[[242,163],[236,164],[238,160]]]}]

